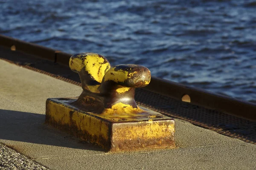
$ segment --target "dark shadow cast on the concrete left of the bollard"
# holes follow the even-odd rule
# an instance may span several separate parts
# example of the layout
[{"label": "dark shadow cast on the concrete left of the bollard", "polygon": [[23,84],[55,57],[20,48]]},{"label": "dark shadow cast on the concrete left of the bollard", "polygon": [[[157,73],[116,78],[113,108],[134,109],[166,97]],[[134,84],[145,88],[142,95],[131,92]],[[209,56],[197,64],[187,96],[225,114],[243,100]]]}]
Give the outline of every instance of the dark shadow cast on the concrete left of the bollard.
[{"label": "dark shadow cast on the concrete left of the bollard", "polygon": [[12,140],[84,150],[105,151],[44,124],[45,115],[0,109],[0,141]]}]

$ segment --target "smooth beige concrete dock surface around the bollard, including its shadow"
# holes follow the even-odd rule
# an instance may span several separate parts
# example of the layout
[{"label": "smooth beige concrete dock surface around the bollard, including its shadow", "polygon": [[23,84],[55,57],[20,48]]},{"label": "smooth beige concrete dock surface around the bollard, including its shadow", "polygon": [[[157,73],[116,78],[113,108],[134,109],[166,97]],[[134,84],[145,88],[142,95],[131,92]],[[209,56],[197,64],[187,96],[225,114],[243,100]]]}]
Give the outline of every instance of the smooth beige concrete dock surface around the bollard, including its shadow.
[{"label": "smooth beige concrete dock surface around the bollard, including its shadow", "polygon": [[0,81],[0,143],[49,169],[256,169],[255,144],[179,119],[175,149],[106,153],[44,124],[46,99],[79,96],[81,87],[3,60]]}]

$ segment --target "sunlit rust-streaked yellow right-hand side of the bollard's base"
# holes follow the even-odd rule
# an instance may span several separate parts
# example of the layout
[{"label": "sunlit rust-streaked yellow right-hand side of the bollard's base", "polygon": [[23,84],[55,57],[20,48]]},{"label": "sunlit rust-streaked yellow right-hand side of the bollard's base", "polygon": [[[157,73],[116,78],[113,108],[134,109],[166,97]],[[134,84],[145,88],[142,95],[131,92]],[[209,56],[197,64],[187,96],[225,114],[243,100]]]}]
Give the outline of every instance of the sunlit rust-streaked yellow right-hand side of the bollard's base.
[{"label": "sunlit rust-streaked yellow right-hand side of the bollard's base", "polygon": [[135,126],[132,124],[113,125],[113,151],[175,147],[174,120],[145,121]]}]

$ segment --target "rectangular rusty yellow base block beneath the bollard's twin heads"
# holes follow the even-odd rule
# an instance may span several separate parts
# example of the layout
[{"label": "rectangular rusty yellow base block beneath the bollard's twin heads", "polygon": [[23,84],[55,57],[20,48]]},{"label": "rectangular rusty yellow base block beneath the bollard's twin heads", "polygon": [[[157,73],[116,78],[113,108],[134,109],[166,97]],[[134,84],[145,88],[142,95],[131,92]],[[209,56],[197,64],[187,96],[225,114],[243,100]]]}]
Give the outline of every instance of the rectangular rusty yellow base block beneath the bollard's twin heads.
[{"label": "rectangular rusty yellow base block beneath the bollard's twin heads", "polygon": [[175,121],[140,107],[136,114],[105,115],[76,108],[76,98],[47,99],[45,123],[107,151],[175,147]]}]

